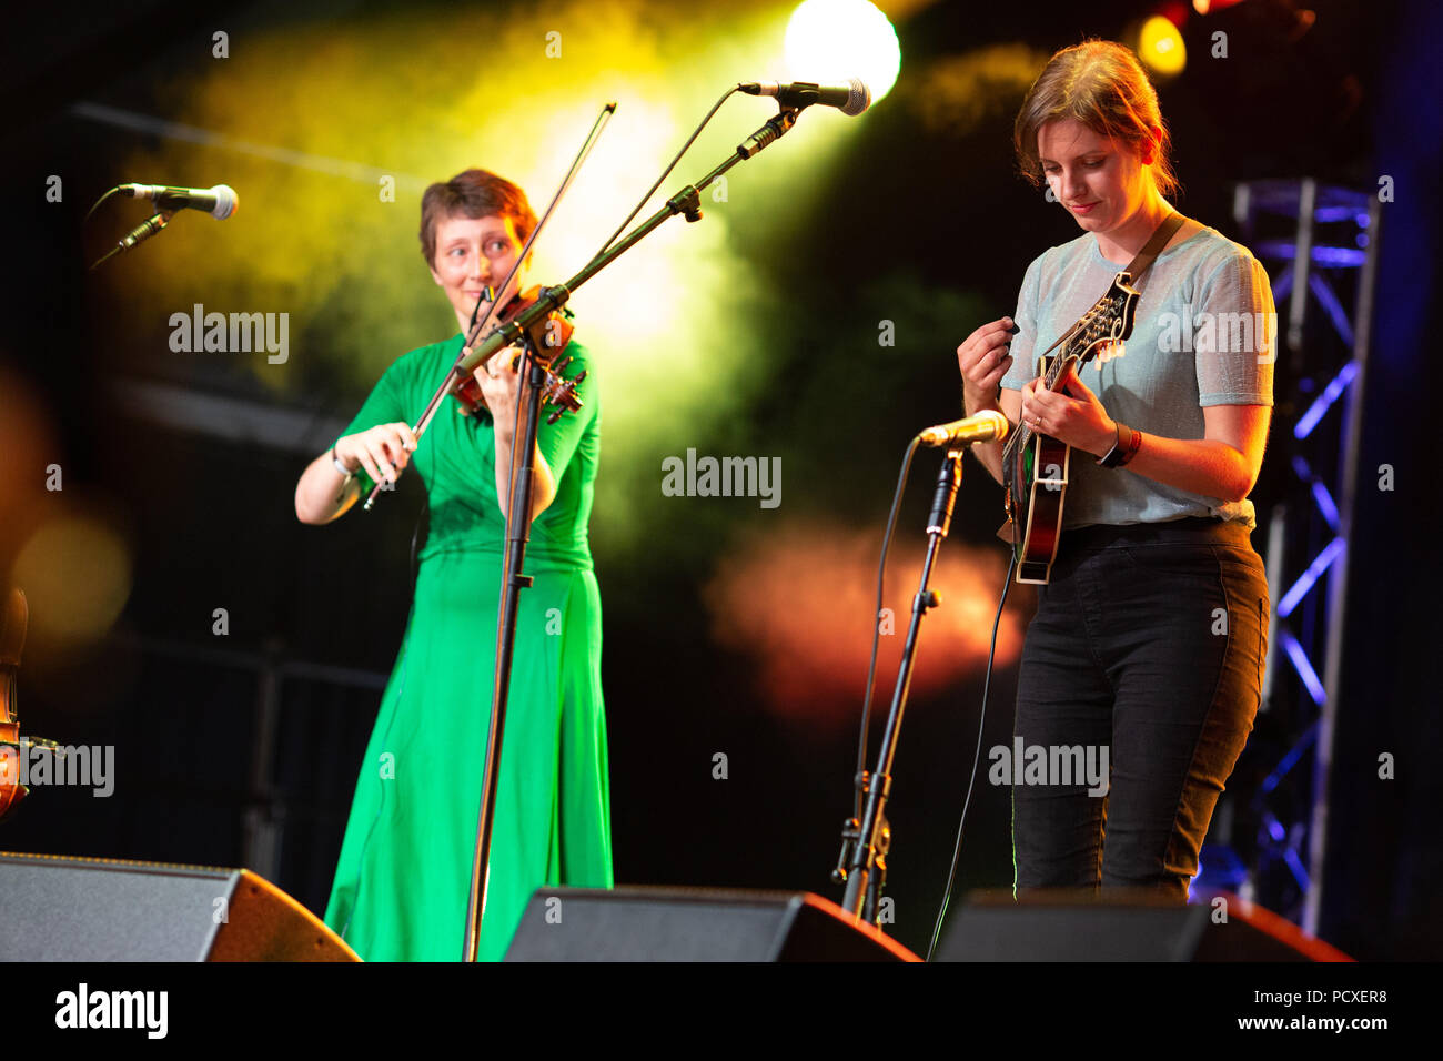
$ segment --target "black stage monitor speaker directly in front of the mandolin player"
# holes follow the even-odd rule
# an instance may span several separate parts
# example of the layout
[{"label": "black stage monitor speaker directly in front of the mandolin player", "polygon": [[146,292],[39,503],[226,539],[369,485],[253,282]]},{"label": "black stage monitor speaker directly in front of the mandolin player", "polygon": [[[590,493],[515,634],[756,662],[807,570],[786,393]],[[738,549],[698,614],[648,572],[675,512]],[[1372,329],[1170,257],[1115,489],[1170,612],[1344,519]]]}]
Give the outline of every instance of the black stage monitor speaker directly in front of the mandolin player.
[{"label": "black stage monitor speaker directly in front of the mandolin player", "polygon": [[[1224,905],[1216,905],[1222,899]],[[1225,920],[1224,920],[1225,918]],[[1149,892],[978,891],[942,935],[937,961],[1351,961],[1237,895],[1189,905]]]}]

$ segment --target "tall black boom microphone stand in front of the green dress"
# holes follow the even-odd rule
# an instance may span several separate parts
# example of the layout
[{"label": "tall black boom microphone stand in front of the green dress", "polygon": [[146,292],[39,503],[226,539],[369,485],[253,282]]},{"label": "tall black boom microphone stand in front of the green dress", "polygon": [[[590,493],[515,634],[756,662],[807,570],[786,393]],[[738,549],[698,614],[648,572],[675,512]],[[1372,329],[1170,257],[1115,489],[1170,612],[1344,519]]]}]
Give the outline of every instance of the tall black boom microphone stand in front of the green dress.
[{"label": "tall black boom microphone stand in front of the green dress", "polygon": [[677,214],[685,215],[687,221],[701,219],[701,192],[707,189],[719,176],[737,163],[746,162],[758,154],[763,147],[776,143],[786,130],[797,124],[801,108],[782,107],[771,121],[743,140],[736,152],[726,162],[707,173],[698,183],[687,185],[667,201],[667,205],[639,224],[631,234],[609,250],[593,257],[580,273],[566,283],[554,287],[544,287],[540,297],[521,310],[509,323],[501,325],[488,335],[475,349],[457,359],[455,374],[465,378],[465,372],[475,371],[476,365],[486,361],[492,354],[505,346],[521,344],[525,349],[524,364],[527,365],[527,385],[530,388],[530,406],[527,409],[524,437],[512,446],[512,463],[521,458],[521,468],[515,469],[515,485],[511,491],[511,504],[506,510],[506,572],[502,582],[499,629],[496,634],[496,668],[495,684],[491,703],[491,729],[486,735],[485,781],[481,794],[481,811],[476,821],[476,852],[470,872],[470,901],[466,917],[466,940],[462,953],[463,961],[475,961],[481,946],[481,924],[486,909],[486,894],[491,878],[491,837],[496,810],[496,788],[499,782],[496,765],[501,762],[501,735],[505,732],[506,697],[511,690],[511,664],[515,651],[517,605],[522,589],[531,586],[531,576],[522,575],[525,563],[525,549],[531,533],[531,489],[532,489],[532,455],[537,445],[538,413],[540,413],[540,380],[543,370],[538,365],[537,349],[531,344],[532,325],[543,322],[554,310],[566,305],[571,292],[584,284],[593,276],[606,268],[625,251],[635,247],[651,235],[664,221]]}]

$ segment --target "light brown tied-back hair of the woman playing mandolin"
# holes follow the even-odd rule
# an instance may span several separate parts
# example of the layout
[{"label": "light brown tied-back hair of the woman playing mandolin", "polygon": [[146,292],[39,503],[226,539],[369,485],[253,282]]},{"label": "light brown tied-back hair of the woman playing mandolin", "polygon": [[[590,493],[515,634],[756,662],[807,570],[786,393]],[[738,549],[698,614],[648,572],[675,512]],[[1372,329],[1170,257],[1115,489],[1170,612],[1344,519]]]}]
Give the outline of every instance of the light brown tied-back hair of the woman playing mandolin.
[{"label": "light brown tied-back hair of the woman playing mandolin", "polygon": [[[1038,159],[1038,131],[1049,121],[1072,118],[1098,136],[1120,140],[1139,154],[1152,153],[1153,178],[1162,195],[1177,192],[1172,167],[1172,136],[1157,107],[1157,91],[1137,56],[1111,40],[1084,40],[1053,55],[1017,111],[1012,143],[1017,167],[1035,186],[1045,180]],[[1153,128],[1162,140],[1153,143]]]}]

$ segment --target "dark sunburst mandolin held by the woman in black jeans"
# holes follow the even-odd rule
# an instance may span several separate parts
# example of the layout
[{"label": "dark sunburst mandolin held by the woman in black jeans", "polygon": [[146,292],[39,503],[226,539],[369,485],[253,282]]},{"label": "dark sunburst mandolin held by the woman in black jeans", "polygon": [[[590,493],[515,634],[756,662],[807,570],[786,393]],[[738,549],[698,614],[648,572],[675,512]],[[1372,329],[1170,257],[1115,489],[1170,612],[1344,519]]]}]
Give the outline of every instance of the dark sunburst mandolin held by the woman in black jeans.
[{"label": "dark sunburst mandolin held by the woman in black jeans", "polygon": [[[1069,367],[1081,368],[1092,358],[1110,361],[1126,352],[1123,344],[1133,333],[1139,299],[1131,283],[1126,270],[1113,277],[1113,284],[1092,309],[1046,354],[1039,355],[1038,377],[1048,390],[1059,388]],[[1052,354],[1059,346],[1062,349]],[[1007,523],[999,534],[1012,541],[1017,582],[1045,585],[1052,577],[1052,563],[1062,540],[1062,502],[1068,492],[1071,458],[1072,446],[1027,424],[1019,424],[1003,449]]]}]

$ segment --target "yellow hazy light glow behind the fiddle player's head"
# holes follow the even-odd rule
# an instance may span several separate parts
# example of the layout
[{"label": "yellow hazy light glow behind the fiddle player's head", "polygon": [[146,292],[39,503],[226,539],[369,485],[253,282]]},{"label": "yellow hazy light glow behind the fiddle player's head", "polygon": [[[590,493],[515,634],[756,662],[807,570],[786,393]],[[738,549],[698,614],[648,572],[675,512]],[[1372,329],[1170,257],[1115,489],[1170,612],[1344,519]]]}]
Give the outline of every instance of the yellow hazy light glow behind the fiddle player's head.
[{"label": "yellow hazy light glow behind the fiddle player's head", "polygon": [[[245,196],[247,211],[209,228],[206,218],[177,218],[146,270],[104,276],[126,315],[115,329],[137,336],[127,371],[182,380],[195,372],[201,385],[212,368],[250,374],[280,397],[303,400],[310,372],[329,361],[338,388],[369,393],[401,354],[456,331],[417,253],[420,198],[431,180],[481,166],[519,183],[540,211],[600,104],[616,100],[616,117],[535,248],[527,283],[558,283],[612,234],[727,85],[861,77],[873,98],[890,85],[895,39],[886,77],[846,56],[838,65],[835,55],[827,66],[792,69],[784,40],[794,4],[703,4],[685,22],[657,22],[657,4],[597,9],[592,0],[544,4],[544,13],[394,9],[349,19],[339,38],[332,23],[297,16],[225,64],[206,53],[167,74],[172,105],[159,115],[162,128],[136,136],[117,169],[189,173],[185,183],[202,188],[224,180]],[[882,32],[893,38],[885,20]],[[488,42],[481,69],[476,40]],[[765,322],[786,312],[785,297],[759,263],[804,245],[827,222],[802,189],[823,182],[848,137],[866,128],[815,110],[784,143],[703,193],[703,224],[662,225],[570,302],[605,396],[597,551],[644,547],[644,505],[670,505],[657,486],[662,456],[720,445],[722,426],[746,424],[749,403],[784,364]],[[771,113],[771,101],[733,100],[639,217],[732,154]],[[117,208],[107,224],[120,232],[139,219]],[[170,351],[162,325],[195,303],[289,313],[291,357],[271,364],[264,354]],[[9,426],[4,394],[0,384],[0,435]],[[349,419],[355,409],[335,400],[326,411]],[[0,465],[0,499],[6,482]],[[0,560],[23,540],[12,543],[17,536],[6,531],[0,521]],[[38,614],[33,595],[32,603]]]}]

